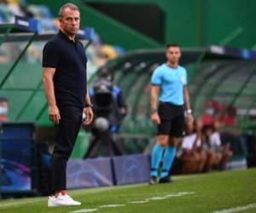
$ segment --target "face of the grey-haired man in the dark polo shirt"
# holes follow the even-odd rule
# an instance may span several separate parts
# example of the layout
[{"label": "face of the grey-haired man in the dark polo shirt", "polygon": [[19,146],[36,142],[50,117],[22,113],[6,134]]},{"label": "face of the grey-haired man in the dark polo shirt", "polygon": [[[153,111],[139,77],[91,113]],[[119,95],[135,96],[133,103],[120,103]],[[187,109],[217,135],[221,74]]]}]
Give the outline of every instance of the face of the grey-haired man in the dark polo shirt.
[{"label": "face of the grey-haired man in the dark polo shirt", "polygon": [[67,35],[74,36],[79,32],[80,14],[78,10],[65,8],[60,18],[61,29]]}]

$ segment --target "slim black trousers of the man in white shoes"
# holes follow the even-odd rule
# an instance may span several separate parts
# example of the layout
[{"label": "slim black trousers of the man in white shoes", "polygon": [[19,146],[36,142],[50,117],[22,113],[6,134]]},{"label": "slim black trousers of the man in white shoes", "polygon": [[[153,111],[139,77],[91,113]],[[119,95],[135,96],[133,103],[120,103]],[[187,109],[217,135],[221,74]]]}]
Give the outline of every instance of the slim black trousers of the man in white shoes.
[{"label": "slim black trousers of the man in white shoes", "polygon": [[51,158],[51,190],[66,189],[67,160],[70,157],[82,123],[83,109],[60,108],[61,120],[55,125],[55,148]]}]

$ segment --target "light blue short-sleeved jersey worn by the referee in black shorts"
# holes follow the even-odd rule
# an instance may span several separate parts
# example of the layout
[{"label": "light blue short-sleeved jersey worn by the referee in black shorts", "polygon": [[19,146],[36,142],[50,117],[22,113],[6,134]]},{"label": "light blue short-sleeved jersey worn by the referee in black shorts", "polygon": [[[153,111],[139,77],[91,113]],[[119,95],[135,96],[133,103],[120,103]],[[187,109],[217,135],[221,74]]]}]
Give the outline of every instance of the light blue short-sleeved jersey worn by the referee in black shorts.
[{"label": "light blue short-sleeved jersey worn by the referee in black shorts", "polygon": [[160,86],[159,100],[177,106],[184,104],[183,87],[187,85],[187,71],[183,66],[172,68],[163,64],[157,67],[151,77],[153,85]]}]

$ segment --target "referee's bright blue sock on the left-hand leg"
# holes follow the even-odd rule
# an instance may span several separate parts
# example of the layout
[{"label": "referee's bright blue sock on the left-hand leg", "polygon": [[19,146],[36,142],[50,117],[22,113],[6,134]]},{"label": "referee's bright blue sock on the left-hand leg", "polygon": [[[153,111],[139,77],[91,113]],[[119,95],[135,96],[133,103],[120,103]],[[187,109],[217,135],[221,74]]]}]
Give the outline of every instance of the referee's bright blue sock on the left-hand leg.
[{"label": "referee's bright blue sock on the left-hand leg", "polygon": [[150,176],[158,176],[157,170],[164,152],[164,147],[161,147],[158,143],[154,144],[151,152],[151,172]]}]

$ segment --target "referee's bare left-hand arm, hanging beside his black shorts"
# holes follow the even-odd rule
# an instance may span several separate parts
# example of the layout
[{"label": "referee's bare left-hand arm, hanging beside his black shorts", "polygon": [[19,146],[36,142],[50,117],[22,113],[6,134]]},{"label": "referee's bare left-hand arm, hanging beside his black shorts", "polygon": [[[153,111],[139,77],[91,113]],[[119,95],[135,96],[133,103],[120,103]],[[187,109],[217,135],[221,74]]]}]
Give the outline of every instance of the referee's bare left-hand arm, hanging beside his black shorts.
[{"label": "referee's bare left-hand arm, hanging beside his black shorts", "polygon": [[160,86],[151,84],[151,94],[150,94],[151,120],[154,124],[160,124],[160,117],[157,112],[159,89],[160,89]]}]

